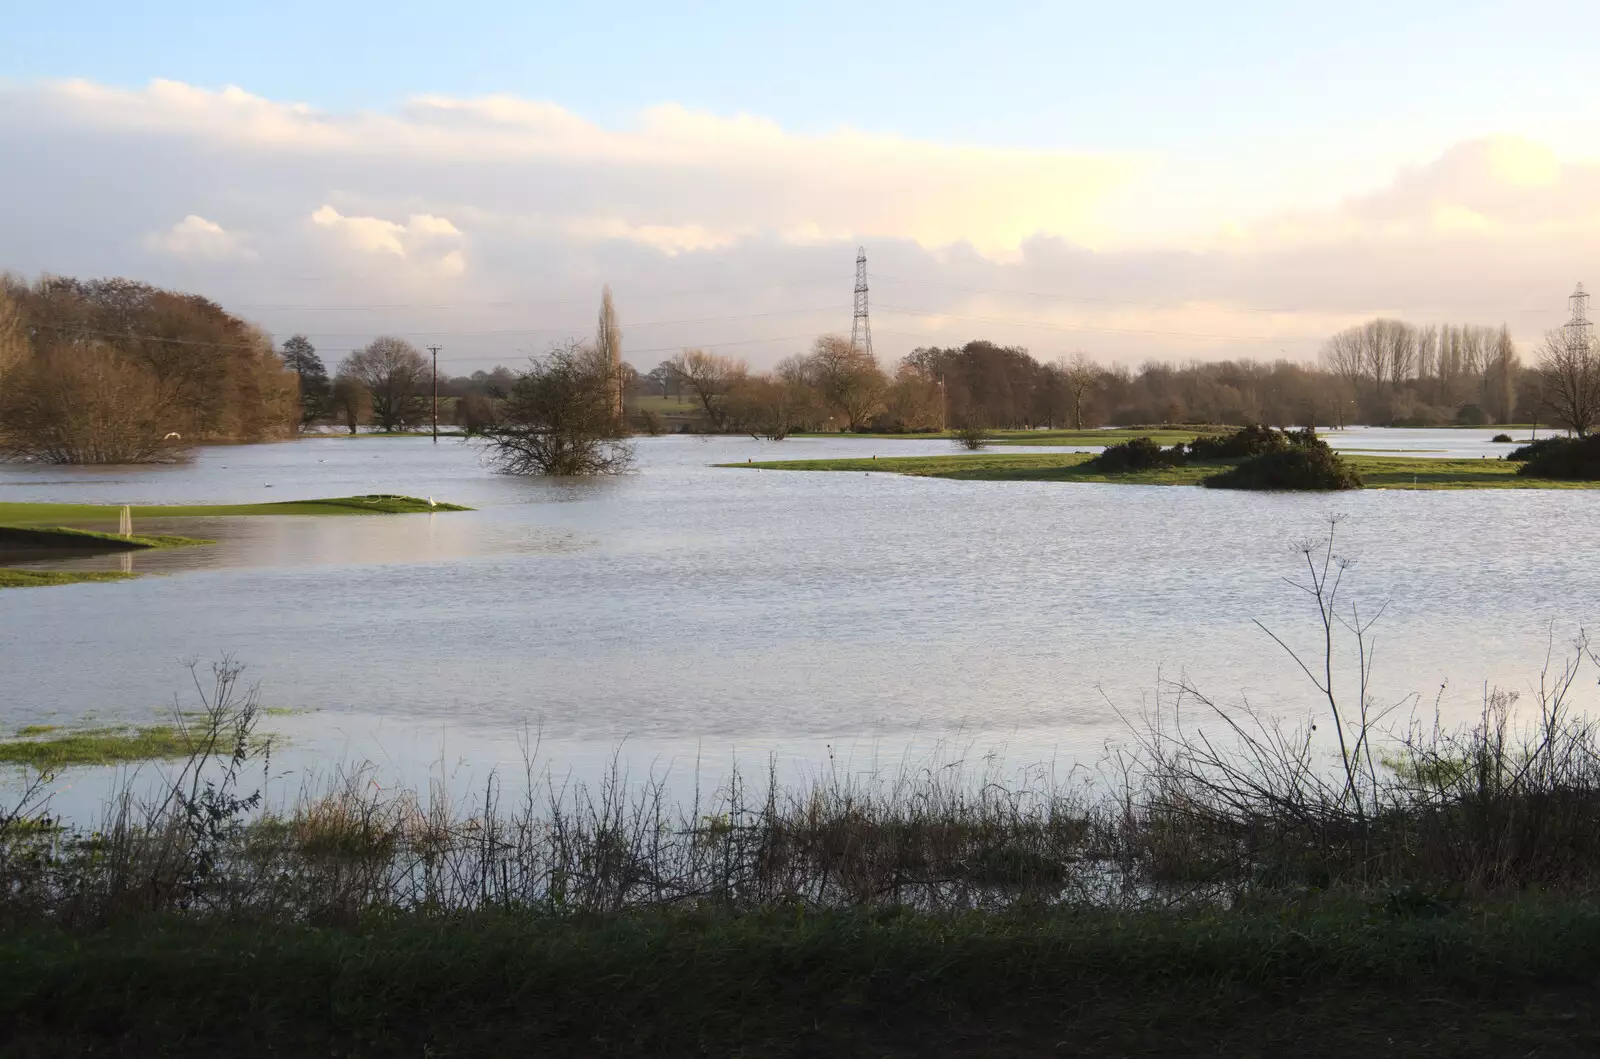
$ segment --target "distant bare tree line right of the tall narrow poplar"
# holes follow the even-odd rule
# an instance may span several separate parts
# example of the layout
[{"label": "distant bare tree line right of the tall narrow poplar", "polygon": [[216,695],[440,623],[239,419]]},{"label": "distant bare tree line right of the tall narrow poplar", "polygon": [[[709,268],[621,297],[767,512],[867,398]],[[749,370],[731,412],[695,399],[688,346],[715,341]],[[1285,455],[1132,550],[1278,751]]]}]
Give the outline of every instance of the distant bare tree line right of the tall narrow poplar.
[{"label": "distant bare tree line right of the tall narrow poplar", "polygon": [[[1586,362],[1587,363],[1587,362]],[[1040,363],[1019,346],[923,347],[893,371],[822,336],[771,371],[685,350],[640,376],[638,392],[693,402],[710,430],[931,432],[1154,422],[1274,426],[1482,426],[1573,419],[1549,357],[1522,365],[1506,328],[1418,328],[1373,320],[1333,336],[1318,365],[1213,360],[1099,365],[1086,354]],[[1571,402],[1565,402],[1571,405]],[[1573,429],[1586,429],[1587,421]]]}]

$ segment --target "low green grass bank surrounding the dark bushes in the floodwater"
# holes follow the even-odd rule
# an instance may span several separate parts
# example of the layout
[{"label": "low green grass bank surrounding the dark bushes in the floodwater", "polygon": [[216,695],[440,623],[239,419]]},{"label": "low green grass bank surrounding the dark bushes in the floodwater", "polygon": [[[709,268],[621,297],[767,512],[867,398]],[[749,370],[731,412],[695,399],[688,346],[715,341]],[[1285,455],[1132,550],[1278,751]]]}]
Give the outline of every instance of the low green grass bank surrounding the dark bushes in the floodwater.
[{"label": "low green grass bank surrounding the dark bushes in the floodwater", "polygon": [[[789,459],[723,464],[758,470],[885,472],[962,482],[1098,482],[1115,485],[1198,485],[1227,464],[1189,464],[1133,474],[1088,467],[1093,453],[979,453],[976,456],[888,456],[883,459]],[[1502,459],[1416,459],[1344,456],[1370,490],[1592,490],[1600,482],[1523,478]]]}]

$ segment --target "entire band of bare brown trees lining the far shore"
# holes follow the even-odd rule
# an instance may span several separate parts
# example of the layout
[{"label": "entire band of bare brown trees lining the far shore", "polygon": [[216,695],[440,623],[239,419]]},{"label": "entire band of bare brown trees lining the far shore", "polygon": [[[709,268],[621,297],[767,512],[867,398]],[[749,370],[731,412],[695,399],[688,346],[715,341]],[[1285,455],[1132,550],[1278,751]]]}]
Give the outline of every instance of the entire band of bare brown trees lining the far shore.
[{"label": "entire band of bare brown trees lining the far shore", "polygon": [[[442,419],[483,437],[515,429],[518,416],[526,427],[531,408],[550,411],[530,387],[560,368],[568,382],[600,387],[584,397],[594,406],[566,418],[590,432],[600,419],[621,432],[664,429],[662,403],[645,398],[691,408],[680,427],[771,438],[1158,422],[1544,421],[1587,434],[1600,422],[1600,354],[1592,338],[1568,331],[1546,336],[1533,366],[1504,326],[1387,318],[1331,336],[1315,365],[1130,368],[1083,352],[1045,363],[1021,346],[974,339],[920,347],[885,366],[848,338],[822,334],[766,371],[685,349],[640,373],[622,360],[621,341],[605,291],[594,339],[552,347],[520,371],[442,378]],[[259,328],[195,294],[120,278],[0,282],[0,454],[13,459],[141,462],[197,442],[266,440],[314,424],[413,430],[430,416],[432,389],[429,358],[397,336],[374,338],[330,373],[306,336],[275,350]]]}]

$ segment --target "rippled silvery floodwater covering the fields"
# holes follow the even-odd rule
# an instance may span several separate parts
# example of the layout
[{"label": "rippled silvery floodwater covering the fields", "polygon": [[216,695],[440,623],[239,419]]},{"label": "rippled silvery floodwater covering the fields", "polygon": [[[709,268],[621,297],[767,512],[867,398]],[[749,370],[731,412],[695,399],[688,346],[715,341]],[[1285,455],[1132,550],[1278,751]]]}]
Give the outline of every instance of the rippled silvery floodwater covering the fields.
[{"label": "rippled silvery floodwater covering the fields", "polygon": [[[1490,430],[1349,430],[1342,448],[1498,456]],[[1520,435],[1518,435],[1520,437]],[[0,501],[245,502],[406,493],[477,510],[141,522],[214,547],[122,584],[0,592],[0,731],[150,723],[184,659],[230,654],[280,710],[290,771],[371,760],[557,768],[894,763],[946,739],[1072,761],[1163,681],[1290,718],[1315,693],[1254,622],[1315,649],[1285,576],[1326,531],[1374,629],[1374,694],[1467,717],[1536,685],[1600,616],[1600,491],[1270,496],[718,469],[944,442],[643,438],[613,480],[518,480],[459,440],[208,448],[146,469],[0,469]],[[1024,450],[1002,450],[1024,451]],[[1061,450],[1051,450],[1061,451]],[[186,688],[189,694],[186,696]],[[1586,694],[1589,691],[1586,689]]]}]

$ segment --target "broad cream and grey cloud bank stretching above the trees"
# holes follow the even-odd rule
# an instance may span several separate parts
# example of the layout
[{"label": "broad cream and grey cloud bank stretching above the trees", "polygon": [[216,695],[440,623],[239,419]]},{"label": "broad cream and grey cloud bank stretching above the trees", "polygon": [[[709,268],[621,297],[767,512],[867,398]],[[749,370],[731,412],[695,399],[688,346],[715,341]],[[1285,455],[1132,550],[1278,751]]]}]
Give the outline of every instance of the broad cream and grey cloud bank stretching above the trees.
[{"label": "broad cream and grey cloud bank stretching above the trees", "polygon": [[1531,341],[1600,261],[1600,165],[1510,136],[1296,198],[1304,158],[1272,146],[1245,165],[675,104],[602,126],[504,96],[325,112],[70,82],[0,86],[0,150],[27,160],[0,168],[0,267],[198,290],[331,350],[437,339],[462,370],[586,334],[602,283],[637,363],[686,344],[771,363],[848,331],[858,245],[885,357],[978,336],[1312,357],[1376,314]]}]

